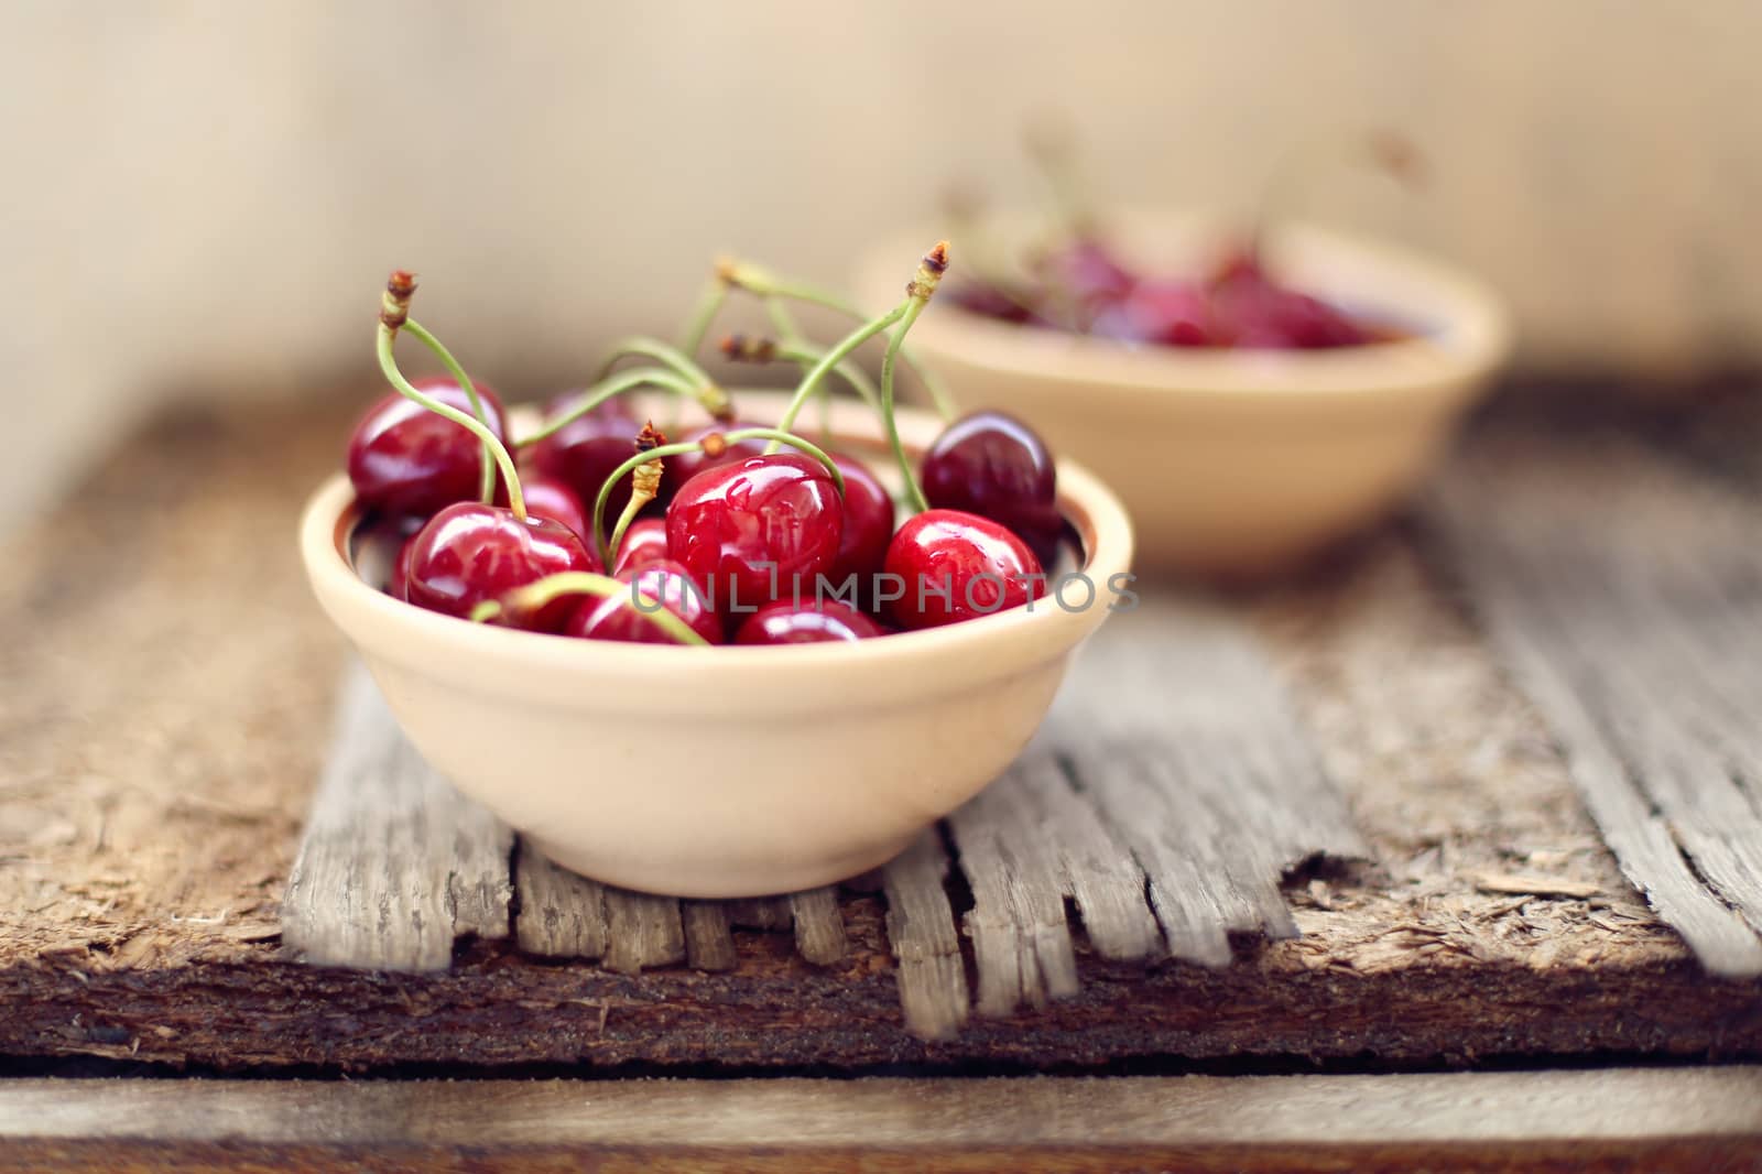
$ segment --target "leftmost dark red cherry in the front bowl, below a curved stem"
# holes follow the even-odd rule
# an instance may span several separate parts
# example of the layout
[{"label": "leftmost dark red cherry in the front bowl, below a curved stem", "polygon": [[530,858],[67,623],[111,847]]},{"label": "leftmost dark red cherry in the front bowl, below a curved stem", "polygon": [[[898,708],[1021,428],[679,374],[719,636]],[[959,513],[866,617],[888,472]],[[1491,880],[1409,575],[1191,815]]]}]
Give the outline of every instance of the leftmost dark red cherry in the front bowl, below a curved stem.
[{"label": "leftmost dark red cherry in the front bowl, below a curved stem", "polygon": [[[451,379],[418,379],[416,388],[470,412],[470,397]],[[506,442],[502,400],[481,383],[478,397],[490,430]],[[481,478],[483,442],[396,391],[366,409],[349,435],[349,479],[366,506],[432,515],[456,501],[476,501]]]}]

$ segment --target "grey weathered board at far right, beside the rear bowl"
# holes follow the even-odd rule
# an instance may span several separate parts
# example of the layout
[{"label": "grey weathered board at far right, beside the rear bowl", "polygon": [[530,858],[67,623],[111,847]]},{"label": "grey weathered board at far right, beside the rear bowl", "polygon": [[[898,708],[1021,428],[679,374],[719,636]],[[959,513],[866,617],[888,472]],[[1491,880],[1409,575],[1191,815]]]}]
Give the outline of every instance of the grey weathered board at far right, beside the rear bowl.
[{"label": "grey weathered board at far right, beside the rear bowl", "polygon": [[1762,973],[1762,513],[1633,441],[1499,432],[1433,518],[1623,871]]}]

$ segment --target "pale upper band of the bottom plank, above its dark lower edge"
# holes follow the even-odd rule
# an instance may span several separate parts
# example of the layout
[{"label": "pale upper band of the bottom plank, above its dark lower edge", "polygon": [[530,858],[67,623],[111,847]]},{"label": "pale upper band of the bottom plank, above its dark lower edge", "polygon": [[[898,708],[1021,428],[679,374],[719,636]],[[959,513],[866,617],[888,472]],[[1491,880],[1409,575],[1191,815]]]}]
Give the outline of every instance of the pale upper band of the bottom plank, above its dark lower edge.
[{"label": "pale upper band of the bottom plank, above its dark lower edge", "polygon": [[[758,1149],[796,1158],[907,1149],[992,1153],[1001,1162],[1004,1151],[1105,1155],[1136,1148],[1189,1153],[1230,1146],[1538,1146],[1646,1139],[1720,1139],[1725,1146],[1716,1153],[1755,1156],[1753,1146],[1762,1141],[1762,1068],[592,1086],[25,1079],[0,1084],[0,1139],[7,1139],[5,1149],[16,1156],[30,1155],[30,1142],[102,1141],[113,1156],[123,1156],[120,1142],[139,1156],[159,1144],[226,1142],[402,1153],[470,1148],[479,1155],[516,1148],[532,1153],[543,1146],[638,1153]],[[0,1167],[5,1165],[0,1158]]]}]

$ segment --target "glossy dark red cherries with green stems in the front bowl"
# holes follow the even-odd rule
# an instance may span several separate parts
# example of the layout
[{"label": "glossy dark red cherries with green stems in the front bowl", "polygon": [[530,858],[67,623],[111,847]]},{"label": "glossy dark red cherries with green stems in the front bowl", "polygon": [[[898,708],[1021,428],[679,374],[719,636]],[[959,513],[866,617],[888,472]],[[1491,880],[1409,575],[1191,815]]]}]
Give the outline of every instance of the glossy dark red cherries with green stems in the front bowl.
[{"label": "glossy dark red cherries with green stems in the front bowl", "polygon": [[[396,541],[388,594],[562,636],[744,645],[865,640],[1041,598],[1066,524],[1040,437],[1001,412],[973,412],[916,469],[899,441],[895,360],[944,268],[939,243],[904,303],[835,347],[791,351],[802,383],[782,420],[763,427],[740,423],[691,356],[729,289],[772,305],[800,287],[719,266],[680,346],[620,344],[596,384],[552,400],[523,439],[495,391],[409,317],[414,280],[393,273],[379,360],[395,391],[356,425],[347,457],[358,536]],[[876,407],[900,465],[899,525],[863,462],[791,432],[828,375],[867,383],[849,356],[888,328]],[[430,346],[451,375],[407,381],[393,360],[398,333]],[[652,365],[613,370],[629,356]],[[670,442],[620,398],[638,388],[673,391],[710,420]]]}]

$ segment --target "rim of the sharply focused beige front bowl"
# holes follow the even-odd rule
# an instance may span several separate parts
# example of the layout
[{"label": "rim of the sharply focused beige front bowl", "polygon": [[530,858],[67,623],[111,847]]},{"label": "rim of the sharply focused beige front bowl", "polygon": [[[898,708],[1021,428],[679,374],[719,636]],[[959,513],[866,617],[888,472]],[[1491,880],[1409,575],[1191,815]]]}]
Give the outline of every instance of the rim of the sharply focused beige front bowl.
[{"label": "rim of the sharply focused beige front bowl", "polygon": [[[782,402],[782,397],[729,390],[737,404]],[[941,428],[941,421],[922,409],[900,407],[900,434],[907,450],[922,450]],[[853,428],[869,416],[872,430]],[[832,412],[833,434],[860,448],[879,442],[879,421],[862,404],[837,400]],[[853,434],[855,432],[855,434]],[[969,663],[983,649],[1011,642],[1048,649],[1048,656],[1068,650],[1107,619],[1105,591],[1112,576],[1131,573],[1133,532],[1126,508],[1092,472],[1070,460],[1057,462],[1059,504],[1084,538],[1087,562],[1080,568],[1096,583],[1096,603],[1070,612],[1052,594],[1033,603],[973,620],[904,631],[876,640],[802,643],[789,647],[751,645],[673,645],[624,643],[611,640],[569,640],[548,633],[516,631],[490,624],[470,624],[451,615],[402,603],[368,585],[345,554],[345,543],[361,520],[354,488],[345,472],[328,476],[307,501],[300,520],[300,550],[307,576],[321,606],[351,640],[351,624],[337,615],[333,601],[347,605],[361,622],[375,624],[384,635],[403,635],[418,647],[433,649],[435,659],[493,659],[504,668],[534,673],[617,675],[633,682],[654,682],[691,672],[692,682],[705,673],[751,677],[752,673],[816,673],[830,666],[874,668],[922,663],[925,659]],[[374,642],[384,645],[388,640]],[[384,656],[375,647],[377,656]],[[396,658],[393,658],[396,659]]]}]

